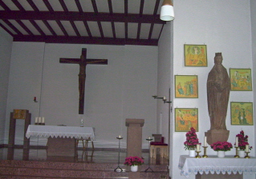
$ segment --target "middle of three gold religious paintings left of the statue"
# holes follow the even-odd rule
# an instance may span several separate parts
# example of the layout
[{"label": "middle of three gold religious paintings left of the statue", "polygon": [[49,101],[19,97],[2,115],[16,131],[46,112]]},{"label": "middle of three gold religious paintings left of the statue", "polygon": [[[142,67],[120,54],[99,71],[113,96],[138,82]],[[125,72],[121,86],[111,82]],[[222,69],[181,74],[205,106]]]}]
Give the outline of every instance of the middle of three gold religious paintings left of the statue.
[{"label": "middle of three gold religious paintings left of the statue", "polygon": [[197,98],[197,75],[175,75],[175,97]]}]

